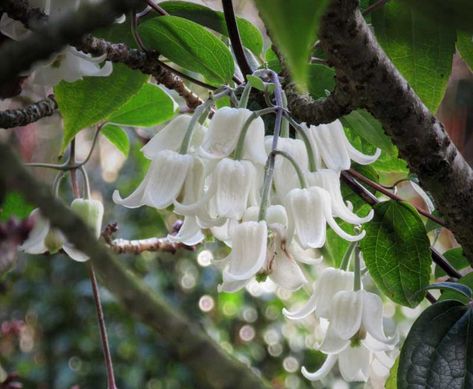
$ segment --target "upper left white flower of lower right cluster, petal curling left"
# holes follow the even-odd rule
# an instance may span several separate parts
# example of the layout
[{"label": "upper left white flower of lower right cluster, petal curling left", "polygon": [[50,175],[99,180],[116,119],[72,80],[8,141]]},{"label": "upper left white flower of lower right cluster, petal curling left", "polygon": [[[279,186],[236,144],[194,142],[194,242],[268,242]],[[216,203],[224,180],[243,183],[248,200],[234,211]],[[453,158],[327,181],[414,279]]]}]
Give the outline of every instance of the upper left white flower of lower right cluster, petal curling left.
[{"label": "upper left white flower of lower right cluster, petal curling left", "polygon": [[299,320],[315,312],[317,317],[328,319],[333,306],[333,297],[342,290],[352,290],[353,281],[353,272],[328,267],[320,273],[307,303],[295,311],[283,309],[283,314],[289,319]]}]

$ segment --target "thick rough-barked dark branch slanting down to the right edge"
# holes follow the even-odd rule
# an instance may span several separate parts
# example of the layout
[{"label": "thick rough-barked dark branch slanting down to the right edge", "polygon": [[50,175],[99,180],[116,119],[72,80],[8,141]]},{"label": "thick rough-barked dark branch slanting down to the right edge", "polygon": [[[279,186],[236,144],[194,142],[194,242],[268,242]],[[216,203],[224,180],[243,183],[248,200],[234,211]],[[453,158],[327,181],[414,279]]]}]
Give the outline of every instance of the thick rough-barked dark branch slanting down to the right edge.
[{"label": "thick rough-barked dark branch slanting down to the right edge", "polygon": [[[319,36],[330,64],[337,74],[347,77],[360,107],[381,122],[401,157],[436,200],[448,228],[473,264],[473,171],[443,125],[379,46],[358,1],[331,0]],[[316,115],[301,115],[300,119],[319,122]]]}]

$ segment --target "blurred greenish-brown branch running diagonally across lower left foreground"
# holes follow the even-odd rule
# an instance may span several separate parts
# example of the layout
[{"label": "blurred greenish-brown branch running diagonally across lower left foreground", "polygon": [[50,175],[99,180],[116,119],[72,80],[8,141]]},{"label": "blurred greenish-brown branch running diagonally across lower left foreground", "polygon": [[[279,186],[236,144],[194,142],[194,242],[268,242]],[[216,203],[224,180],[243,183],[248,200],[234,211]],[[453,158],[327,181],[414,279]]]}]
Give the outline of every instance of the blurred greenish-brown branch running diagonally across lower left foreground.
[{"label": "blurred greenish-brown branch running diagonally across lower left foreground", "polygon": [[[104,285],[140,320],[154,328],[176,350],[177,357],[192,367],[202,387],[269,388],[253,371],[226,354],[200,328],[154,290],[127,270],[103,244],[94,239],[82,219],[56,199],[49,188],[38,182],[20,163],[12,150],[0,143],[0,182],[21,192],[59,228],[78,249],[86,253]],[[71,266],[79,266],[72,264]],[[137,304],[137,302],[139,302]]]}]

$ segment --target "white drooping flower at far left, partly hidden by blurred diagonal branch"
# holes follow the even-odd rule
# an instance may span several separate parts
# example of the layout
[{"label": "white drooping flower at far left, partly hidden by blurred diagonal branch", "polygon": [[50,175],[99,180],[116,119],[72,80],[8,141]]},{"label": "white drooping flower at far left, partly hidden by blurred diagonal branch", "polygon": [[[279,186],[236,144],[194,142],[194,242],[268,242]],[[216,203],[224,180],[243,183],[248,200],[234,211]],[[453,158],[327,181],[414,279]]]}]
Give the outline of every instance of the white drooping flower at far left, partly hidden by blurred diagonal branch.
[{"label": "white drooping flower at far left, partly hidden by blurred diagonal branch", "polygon": [[[71,203],[71,209],[86,222],[98,239],[102,226],[103,204],[98,200],[75,199]],[[33,210],[30,217],[35,219],[35,224],[28,239],[18,247],[19,250],[28,254],[42,254],[45,252],[54,254],[62,248],[67,255],[78,262],[89,259],[87,255],[68,242],[61,231],[51,228],[49,220],[41,215],[39,209]]]}]

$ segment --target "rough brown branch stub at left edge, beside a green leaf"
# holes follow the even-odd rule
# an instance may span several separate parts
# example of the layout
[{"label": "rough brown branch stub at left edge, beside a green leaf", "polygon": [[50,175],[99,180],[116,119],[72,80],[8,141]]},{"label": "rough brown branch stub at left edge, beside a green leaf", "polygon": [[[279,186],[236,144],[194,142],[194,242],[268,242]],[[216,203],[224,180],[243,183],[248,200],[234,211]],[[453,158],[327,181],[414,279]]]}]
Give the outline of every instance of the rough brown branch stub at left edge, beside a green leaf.
[{"label": "rough brown branch stub at left edge, beside a green leaf", "polygon": [[53,95],[23,108],[8,109],[0,112],[0,128],[26,126],[44,117],[52,116],[57,109]]}]

